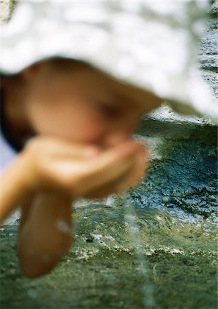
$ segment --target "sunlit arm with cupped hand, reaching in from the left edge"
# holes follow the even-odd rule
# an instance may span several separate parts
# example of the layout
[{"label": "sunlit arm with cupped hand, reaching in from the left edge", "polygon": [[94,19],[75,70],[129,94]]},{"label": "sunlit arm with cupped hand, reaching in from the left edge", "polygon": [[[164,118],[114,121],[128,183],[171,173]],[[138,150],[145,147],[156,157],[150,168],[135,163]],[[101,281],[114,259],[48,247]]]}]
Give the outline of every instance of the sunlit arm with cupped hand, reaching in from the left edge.
[{"label": "sunlit arm with cupped hand, reaching in from the left edge", "polygon": [[[133,141],[104,152],[93,146],[71,144],[50,137],[36,137],[8,166],[1,179],[0,218],[38,191],[56,191],[71,198],[92,196],[104,187],[104,195],[119,192],[140,179],[144,165],[131,176],[138,156],[145,150]],[[125,178],[128,175],[128,182]]]}]

